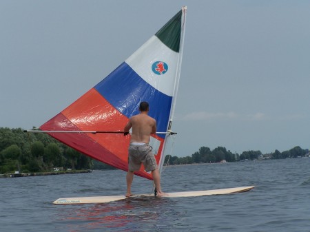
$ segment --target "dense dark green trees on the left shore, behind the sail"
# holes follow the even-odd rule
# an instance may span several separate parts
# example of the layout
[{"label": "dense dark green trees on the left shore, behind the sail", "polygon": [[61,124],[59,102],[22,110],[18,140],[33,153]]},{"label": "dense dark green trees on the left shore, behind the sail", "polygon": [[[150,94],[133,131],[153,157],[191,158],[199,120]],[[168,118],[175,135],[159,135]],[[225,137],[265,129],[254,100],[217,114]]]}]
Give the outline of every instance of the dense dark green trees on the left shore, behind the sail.
[{"label": "dense dark green trees on the left shore, behind the sail", "polygon": [[0,127],[0,173],[44,172],[63,169],[108,169],[44,133]]}]

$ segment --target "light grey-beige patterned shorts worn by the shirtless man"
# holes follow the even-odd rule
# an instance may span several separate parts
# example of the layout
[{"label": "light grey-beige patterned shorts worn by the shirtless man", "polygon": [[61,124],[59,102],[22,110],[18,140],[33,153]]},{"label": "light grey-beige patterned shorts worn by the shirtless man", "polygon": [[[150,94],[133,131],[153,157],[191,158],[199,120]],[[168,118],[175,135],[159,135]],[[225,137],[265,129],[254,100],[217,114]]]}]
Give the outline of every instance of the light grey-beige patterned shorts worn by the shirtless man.
[{"label": "light grey-beige patterned shorts worn by the shirtless man", "polygon": [[146,143],[130,143],[128,154],[128,169],[130,171],[138,171],[141,163],[147,172],[158,168],[152,147]]}]

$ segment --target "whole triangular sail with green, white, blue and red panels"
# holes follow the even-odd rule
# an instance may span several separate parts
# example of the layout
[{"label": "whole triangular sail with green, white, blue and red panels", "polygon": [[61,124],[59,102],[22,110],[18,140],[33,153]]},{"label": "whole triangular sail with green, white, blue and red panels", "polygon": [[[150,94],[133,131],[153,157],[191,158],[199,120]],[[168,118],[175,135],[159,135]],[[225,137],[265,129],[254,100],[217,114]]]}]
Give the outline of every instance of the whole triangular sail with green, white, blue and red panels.
[{"label": "whole triangular sail with green, white, blue and red panels", "polygon": [[[182,61],[185,12],[183,7],[113,72],[40,129],[81,131],[48,134],[86,156],[127,171],[130,136],[83,131],[123,131],[129,118],[139,113],[141,101],[149,103],[149,116],[156,119],[157,131],[171,129]],[[168,137],[167,133],[158,133],[150,141],[160,167]],[[135,174],[152,180],[143,165]]]}]

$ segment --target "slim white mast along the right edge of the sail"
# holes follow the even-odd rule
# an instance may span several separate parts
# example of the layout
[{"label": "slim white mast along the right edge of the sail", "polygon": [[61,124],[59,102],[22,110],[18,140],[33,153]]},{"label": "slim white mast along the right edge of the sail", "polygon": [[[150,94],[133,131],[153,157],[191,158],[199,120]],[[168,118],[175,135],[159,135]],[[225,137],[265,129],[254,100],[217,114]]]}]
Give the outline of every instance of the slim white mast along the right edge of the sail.
[{"label": "slim white mast along the right edge of the sail", "polygon": [[[169,115],[169,123],[167,126],[167,132],[171,131],[172,129],[172,121],[174,118],[174,111],[176,107],[176,96],[178,93],[178,84],[180,82],[180,70],[181,70],[181,65],[182,65],[182,58],[183,58],[183,47],[184,47],[184,39],[185,39],[185,22],[186,22],[186,13],[187,13],[187,6],[182,7],[182,17],[181,17],[181,31],[180,31],[180,50],[178,54],[178,63],[177,63],[177,70],[176,70],[176,76],[174,79],[174,94],[172,97],[172,107]],[[159,174],[161,175],[161,171],[165,162],[165,150],[166,150],[166,145],[169,140],[169,136],[171,134],[166,134],[165,136],[165,141],[163,144],[163,150],[162,150],[162,156],[161,160],[159,160],[158,163],[158,169],[159,169]]]}]

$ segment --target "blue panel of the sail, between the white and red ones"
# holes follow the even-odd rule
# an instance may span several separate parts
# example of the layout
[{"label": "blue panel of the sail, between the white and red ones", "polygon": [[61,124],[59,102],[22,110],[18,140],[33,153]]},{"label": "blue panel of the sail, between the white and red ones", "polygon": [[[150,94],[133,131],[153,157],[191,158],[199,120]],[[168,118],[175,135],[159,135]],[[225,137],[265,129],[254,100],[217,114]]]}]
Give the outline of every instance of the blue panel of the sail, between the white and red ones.
[{"label": "blue panel of the sail, between the white and red ones", "polygon": [[[119,65],[94,88],[128,118],[139,113],[141,101],[147,101],[149,116],[155,118],[157,131],[166,131],[172,97],[149,85],[127,63]],[[165,138],[164,134],[158,136]]]}]

